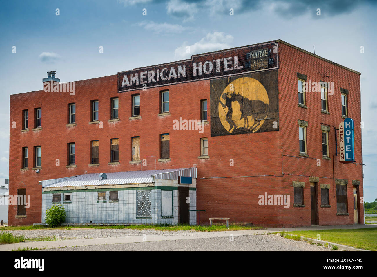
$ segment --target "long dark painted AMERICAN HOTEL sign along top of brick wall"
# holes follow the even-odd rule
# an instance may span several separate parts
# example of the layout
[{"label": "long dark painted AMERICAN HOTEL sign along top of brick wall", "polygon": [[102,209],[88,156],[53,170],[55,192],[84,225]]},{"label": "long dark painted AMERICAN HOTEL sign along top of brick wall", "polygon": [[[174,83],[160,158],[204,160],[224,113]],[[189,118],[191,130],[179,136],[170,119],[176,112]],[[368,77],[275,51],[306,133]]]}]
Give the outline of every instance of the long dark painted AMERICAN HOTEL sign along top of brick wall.
[{"label": "long dark painted AMERICAN HOTEL sign along top of brick wall", "polygon": [[279,67],[275,42],[221,50],[191,59],[118,72],[118,92],[214,79]]}]

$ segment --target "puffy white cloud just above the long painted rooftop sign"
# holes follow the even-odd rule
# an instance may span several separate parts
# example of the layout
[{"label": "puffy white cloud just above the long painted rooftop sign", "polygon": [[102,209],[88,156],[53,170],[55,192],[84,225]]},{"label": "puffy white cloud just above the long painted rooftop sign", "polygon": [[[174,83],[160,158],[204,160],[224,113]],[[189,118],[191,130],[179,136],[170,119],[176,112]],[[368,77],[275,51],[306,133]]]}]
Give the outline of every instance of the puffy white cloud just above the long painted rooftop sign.
[{"label": "puffy white cloud just above the long painted rooftop sign", "polygon": [[[208,33],[206,37],[192,45],[188,45],[187,42],[184,42],[175,49],[174,56],[176,59],[187,59],[194,54],[227,49],[230,48],[232,41],[233,37],[231,35],[225,35],[223,32]],[[187,46],[190,46],[190,53],[186,53]]]}]

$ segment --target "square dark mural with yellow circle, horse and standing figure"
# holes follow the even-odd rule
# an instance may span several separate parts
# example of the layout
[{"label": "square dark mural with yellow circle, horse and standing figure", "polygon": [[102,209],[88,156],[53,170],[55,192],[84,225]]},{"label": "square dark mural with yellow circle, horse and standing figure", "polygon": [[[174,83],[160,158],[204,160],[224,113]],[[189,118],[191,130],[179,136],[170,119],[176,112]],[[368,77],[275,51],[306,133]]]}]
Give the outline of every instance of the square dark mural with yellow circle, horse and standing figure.
[{"label": "square dark mural with yellow circle, horse and standing figure", "polygon": [[211,136],[279,130],[277,71],[211,80]]}]

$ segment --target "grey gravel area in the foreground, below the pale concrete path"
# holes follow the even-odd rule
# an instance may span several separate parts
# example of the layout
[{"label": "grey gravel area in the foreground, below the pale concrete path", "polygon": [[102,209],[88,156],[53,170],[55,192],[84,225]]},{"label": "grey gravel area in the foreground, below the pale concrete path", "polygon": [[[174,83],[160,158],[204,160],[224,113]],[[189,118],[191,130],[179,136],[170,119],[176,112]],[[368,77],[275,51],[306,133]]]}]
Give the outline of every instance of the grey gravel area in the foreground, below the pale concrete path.
[{"label": "grey gravel area in the foreground, below the pale concrete path", "polygon": [[[334,251],[331,248],[286,239],[279,235],[248,235],[229,237],[180,239],[126,244],[91,245],[54,248],[37,251]],[[338,250],[340,251],[340,250]]]}]

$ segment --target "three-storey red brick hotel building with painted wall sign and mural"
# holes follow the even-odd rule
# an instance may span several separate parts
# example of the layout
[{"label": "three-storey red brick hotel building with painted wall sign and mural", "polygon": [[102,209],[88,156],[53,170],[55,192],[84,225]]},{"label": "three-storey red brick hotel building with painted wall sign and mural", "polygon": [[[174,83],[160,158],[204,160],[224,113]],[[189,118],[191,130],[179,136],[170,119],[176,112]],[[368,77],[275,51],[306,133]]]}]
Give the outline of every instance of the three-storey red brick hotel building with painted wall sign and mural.
[{"label": "three-storey red brick hotel building with painted wall sign and mural", "polygon": [[[9,225],[41,222],[41,180],[190,167],[201,224],[364,224],[359,72],[276,40],[46,87],[10,96],[9,195],[30,207],[9,205]],[[336,153],[346,117],[354,164]]]}]

